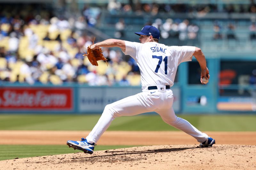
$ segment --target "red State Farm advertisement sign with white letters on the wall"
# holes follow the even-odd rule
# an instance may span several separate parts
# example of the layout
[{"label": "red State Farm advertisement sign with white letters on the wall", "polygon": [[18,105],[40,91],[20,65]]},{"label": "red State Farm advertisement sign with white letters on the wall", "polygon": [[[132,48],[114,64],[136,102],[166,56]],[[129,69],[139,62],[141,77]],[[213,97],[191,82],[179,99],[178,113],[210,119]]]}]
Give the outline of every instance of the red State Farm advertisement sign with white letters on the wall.
[{"label": "red State Farm advertisement sign with white letters on the wall", "polygon": [[72,88],[2,87],[0,88],[0,109],[12,110],[71,110]]}]

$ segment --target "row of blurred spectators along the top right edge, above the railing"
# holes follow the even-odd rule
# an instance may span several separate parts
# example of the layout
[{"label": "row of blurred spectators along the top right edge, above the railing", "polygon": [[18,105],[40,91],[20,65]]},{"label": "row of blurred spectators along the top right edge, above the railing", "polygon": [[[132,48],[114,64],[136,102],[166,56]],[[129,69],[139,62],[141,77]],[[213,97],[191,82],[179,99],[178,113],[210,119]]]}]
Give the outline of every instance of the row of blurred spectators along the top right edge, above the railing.
[{"label": "row of blurred spectators along the top right edge, above the railing", "polygon": [[156,15],[159,12],[164,13],[197,13],[203,15],[210,12],[234,12],[234,13],[256,13],[256,4],[251,0],[250,4],[196,4],[196,3],[177,3],[165,4],[158,1],[158,3],[140,3],[140,1],[129,1],[129,4],[122,4],[117,0],[109,0],[108,11],[111,14],[121,13],[150,13]]}]

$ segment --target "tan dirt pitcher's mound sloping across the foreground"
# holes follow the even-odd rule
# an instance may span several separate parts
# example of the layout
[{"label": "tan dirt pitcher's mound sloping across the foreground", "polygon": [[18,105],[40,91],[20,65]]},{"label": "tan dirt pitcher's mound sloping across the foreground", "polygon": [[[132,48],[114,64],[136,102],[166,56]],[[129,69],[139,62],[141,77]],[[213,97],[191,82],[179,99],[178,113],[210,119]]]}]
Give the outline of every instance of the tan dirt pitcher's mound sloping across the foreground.
[{"label": "tan dirt pitcher's mound sloping across the foreground", "polygon": [[0,169],[256,169],[256,145],[141,146],[0,161]]}]

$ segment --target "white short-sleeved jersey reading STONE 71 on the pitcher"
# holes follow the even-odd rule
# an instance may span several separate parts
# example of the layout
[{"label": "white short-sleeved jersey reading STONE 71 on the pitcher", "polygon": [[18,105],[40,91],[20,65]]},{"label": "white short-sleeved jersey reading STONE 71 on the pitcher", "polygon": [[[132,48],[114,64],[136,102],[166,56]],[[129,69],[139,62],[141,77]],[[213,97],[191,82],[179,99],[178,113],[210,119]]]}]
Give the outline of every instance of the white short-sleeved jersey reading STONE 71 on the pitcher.
[{"label": "white short-sleeved jersey reading STONE 71 on the pitcher", "polygon": [[125,41],[125,55],[138,63],[142,89],[148,86],[173,85],[178,65],[191,61],[196,47],[166,46],[157,42]]}]

